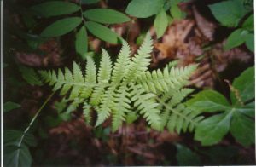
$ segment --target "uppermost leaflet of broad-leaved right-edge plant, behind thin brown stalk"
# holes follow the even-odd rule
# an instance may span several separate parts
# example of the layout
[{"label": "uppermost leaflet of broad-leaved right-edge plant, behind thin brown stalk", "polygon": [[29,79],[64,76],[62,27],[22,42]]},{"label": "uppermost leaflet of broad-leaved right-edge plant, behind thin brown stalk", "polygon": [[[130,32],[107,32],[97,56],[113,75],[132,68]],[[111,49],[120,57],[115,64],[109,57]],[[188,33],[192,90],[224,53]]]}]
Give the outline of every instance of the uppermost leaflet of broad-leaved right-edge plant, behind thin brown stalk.
[{"label": "uppermost leaflet of broad-leaved right-edge plant, behind thin brown stalk", "polygon": [[[238,90],[241,101],[252,100],[255,96],[254,66],[247,68],[238,78],[235,78],[232,86]],[[230,97],[233,105],[236,105],[238,102],[233,91],[231,91]]]}]

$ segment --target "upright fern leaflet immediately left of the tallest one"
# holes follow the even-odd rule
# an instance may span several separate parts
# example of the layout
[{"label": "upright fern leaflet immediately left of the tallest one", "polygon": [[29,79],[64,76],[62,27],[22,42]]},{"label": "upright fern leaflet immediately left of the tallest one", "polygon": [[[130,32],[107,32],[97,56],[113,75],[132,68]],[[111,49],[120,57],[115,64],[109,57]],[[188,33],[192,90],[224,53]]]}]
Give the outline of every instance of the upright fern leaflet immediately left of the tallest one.
[{"label": "upright fern leaflet immediately left of the tallest one", "polygon": [[123,41],[123,46],[113,67],[112,83],[120,83],[122,78],[126,76],[126,72],[131,63],[131,50],[126,41]]}]

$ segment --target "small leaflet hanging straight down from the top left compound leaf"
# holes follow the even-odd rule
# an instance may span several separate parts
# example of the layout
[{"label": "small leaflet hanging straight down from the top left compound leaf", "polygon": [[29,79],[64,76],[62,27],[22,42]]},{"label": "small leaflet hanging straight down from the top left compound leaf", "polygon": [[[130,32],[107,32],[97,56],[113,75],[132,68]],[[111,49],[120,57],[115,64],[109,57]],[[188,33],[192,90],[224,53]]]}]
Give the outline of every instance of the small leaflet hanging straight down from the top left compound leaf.
[{"label": "small leaflet hanging straight down from the top left compound leaf", "polygon": [[88,37],[85,26],[82,26],[76,34],[76,41],[75,41],[76,51],[79,53],[79,55],[82,57],[82,59],[85,59],[85,54],[87,53],[87,47],[88,47]]}]

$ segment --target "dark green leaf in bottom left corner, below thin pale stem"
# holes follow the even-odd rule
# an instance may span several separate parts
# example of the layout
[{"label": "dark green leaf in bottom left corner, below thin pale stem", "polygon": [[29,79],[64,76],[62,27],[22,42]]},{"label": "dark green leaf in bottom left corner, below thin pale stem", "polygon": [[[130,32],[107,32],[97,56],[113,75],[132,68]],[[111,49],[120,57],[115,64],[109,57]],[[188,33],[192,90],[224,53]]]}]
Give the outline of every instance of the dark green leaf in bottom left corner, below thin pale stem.
[{"label": "dark green leaf in bottom left corner, below thin pale stem", "polygon": [[4,147],[3,164],[5,167],[31,166],[32,157],[25,145]]}]

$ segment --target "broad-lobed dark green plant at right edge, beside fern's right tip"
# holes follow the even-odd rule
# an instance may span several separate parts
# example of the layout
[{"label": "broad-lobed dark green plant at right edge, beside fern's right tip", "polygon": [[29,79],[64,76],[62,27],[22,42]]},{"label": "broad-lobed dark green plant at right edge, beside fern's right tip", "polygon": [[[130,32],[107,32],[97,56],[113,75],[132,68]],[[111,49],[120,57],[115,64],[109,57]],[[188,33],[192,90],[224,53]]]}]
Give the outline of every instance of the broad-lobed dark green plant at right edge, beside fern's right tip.
[{"label": "broad-lobed dark green plant at right edge, beside fern's right tip", "polygon": [[196,111],[218,112],[198,124],[195,140],[203,146],[217,144],[230,131],[244,146],[255,143],[254,80],[254,67],[235,78],[230,85],[231,103],[215,90],[203,90],[187,102]]}]

